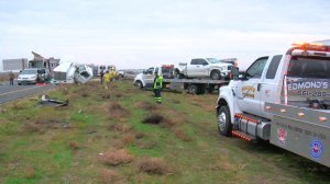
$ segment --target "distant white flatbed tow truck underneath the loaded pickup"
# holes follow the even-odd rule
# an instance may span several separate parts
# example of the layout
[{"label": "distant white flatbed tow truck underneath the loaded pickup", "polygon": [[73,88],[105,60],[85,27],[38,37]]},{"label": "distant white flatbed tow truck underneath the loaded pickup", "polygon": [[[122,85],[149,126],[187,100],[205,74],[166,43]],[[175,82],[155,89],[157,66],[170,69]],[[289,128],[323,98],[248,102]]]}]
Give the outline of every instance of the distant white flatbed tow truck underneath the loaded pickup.
[{"label": "distant white flatbed tow truck underneath the loaded pickup", "polygon": [[206,92],[212,93],[220,87],[228,84],[227,80],[211,80],[211,79],[175,79],[168,74],[168,66],[151,67],[144,70],[143,73],[134,78],[134,85],[140,89],[148,89],[153,87],[155,73],[166,76],[163,79],[163,87],[172,90],[187,90],[190,94],[204,94]]}]

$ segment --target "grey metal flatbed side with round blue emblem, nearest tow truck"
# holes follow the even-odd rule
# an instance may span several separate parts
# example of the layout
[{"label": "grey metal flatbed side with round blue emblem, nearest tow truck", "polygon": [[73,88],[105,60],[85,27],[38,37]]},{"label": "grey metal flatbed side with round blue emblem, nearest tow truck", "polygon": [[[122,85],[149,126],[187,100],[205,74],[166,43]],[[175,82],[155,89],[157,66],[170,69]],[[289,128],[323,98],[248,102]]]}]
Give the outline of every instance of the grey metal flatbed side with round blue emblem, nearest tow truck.
[{"label": "grey metal flatbed side with round blue emblem, nearest tow truck", "polygon": [[283,106],[272,108],[278,111],[273,116],[271,142],[330,166],[330,114],[293,106],[285,106],[286,113]]}]

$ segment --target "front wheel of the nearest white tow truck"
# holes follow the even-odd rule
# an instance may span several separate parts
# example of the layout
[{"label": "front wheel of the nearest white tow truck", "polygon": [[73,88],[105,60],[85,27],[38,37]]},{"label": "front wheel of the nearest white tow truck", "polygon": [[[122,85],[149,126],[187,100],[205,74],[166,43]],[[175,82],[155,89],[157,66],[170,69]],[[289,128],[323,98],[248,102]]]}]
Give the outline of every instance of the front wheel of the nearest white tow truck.
[{"label": "front wheel of the nearest white tow truck", "polygon": [[230,120],[229,107],[221,106],[218,115],[218,130],[222,136],[231,136],[232,124]]}]

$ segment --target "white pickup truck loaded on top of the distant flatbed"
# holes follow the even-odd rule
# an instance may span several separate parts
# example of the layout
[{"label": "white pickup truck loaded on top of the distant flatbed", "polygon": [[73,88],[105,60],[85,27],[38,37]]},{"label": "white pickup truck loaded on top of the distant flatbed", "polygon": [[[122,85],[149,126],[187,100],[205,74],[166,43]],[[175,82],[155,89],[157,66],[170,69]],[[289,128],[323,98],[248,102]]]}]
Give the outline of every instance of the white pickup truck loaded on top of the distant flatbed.
[{"label": "white pickup truck loaded on top of the distant flatbed", "polygon": [[196,58],[188,62],[180,62],[175,69],[175,77],[182,78],[211,78],[212,80],[229,77],[232,64],[221,62],[215,58]]}]

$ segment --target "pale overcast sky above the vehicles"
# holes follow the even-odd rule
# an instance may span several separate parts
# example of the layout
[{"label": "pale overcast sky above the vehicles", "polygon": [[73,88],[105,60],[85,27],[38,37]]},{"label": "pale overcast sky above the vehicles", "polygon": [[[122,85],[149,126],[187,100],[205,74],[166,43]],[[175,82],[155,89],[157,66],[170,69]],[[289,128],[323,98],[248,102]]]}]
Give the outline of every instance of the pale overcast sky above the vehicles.
[{"label": "pale overcast sky above the vehicles", "polygon": [[242,68],[295,41],[330,38],[330,1],[0,0],[0,59],[146,68],[237,57]]}]

